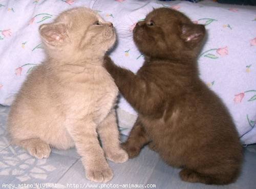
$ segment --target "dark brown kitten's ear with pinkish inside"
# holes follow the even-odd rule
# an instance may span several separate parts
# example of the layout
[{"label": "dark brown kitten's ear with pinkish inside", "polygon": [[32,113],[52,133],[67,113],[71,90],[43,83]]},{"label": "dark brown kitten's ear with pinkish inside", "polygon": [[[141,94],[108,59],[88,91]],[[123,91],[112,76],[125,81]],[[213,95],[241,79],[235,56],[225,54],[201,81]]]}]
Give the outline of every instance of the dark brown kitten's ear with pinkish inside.
[{"label": "dark brown kitten's ear with pinkish inside", "polygon": [[181,38],[191,44],[197,45],[205,35],[205,27],[200,24],[183,24],[181,26]]}]

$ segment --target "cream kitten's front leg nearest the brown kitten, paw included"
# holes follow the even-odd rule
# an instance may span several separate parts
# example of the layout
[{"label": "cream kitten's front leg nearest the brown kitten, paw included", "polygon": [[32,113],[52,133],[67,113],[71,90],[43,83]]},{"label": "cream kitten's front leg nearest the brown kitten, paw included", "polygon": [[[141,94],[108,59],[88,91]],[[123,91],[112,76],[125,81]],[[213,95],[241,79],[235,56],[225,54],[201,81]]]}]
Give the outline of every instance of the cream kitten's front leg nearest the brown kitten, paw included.
[{"label": "cream kitten's front leg nearest the brown kitten, paw included", "polygon": [[124,163],[128,160],[127,153],[120,147],[115,110],[112,110],[100,123],[98,134],[102,141],[106,158],[115,163]]}]

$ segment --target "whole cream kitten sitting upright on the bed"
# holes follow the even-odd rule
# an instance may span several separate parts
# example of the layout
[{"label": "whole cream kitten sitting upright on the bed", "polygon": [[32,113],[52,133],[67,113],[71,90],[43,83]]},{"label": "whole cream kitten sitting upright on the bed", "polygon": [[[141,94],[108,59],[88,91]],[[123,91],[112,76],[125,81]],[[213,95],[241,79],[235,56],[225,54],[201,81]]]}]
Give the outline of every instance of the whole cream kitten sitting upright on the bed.
[{"label": "whole cream kitten sitting upright on the bed", "polygon": [[50,146],[75,145],[86,177],[107,182],[113,173],[105,156],[117,163],[128,159],[119,145],[118,89],[102,67],[116,40],[113,25],[90,9],[75,8],[39,32],[48,58],[31,72],[12,104],[11,140],[37,158],[49,157]]}]

